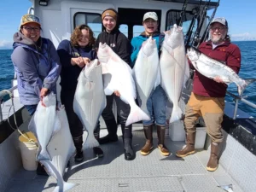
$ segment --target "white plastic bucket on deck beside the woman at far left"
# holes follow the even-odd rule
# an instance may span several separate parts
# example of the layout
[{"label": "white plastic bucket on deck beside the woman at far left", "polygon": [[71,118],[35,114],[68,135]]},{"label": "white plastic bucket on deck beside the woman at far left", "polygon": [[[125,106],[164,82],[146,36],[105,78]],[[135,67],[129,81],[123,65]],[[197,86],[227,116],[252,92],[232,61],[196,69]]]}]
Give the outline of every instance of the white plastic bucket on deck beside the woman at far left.
[{"label": "white plastic bucket on deck beside the woman at far left", "polygon": [[24,169],[27,171],[35,171],[38,166],[38,162],[36,161],[36,155],[38,152],[38,147],[36,145],[37,139],[32,132],[26,132],[24,135],[35,141],[35,143],[28,141],[28,139],[22,135],[19,137],[22,164]]}]

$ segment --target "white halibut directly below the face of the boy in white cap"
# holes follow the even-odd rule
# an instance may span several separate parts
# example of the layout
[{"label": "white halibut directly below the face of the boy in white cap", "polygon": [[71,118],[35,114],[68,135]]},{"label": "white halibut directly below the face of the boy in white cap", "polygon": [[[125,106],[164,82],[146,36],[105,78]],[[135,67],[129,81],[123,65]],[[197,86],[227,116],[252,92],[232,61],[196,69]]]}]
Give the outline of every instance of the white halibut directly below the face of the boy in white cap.
[{"label": "white halibut directly below the face of the boy in white cap", "polygon": [[148,38],[140,49],[135,66],[133,77],[137,85],[137,92],[142,100],[141,108],[148,114],[147,101],[152,90],[160,84],[160,67],[158,49],[155,40]]}]

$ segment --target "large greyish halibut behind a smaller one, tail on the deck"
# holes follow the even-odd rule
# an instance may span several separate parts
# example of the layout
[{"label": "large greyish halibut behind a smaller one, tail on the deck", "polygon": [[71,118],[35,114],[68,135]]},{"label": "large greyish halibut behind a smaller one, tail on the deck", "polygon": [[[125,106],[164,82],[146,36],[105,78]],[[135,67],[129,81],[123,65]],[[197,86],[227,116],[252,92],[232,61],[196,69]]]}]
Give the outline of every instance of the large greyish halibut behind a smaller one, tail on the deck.
[{"label": "large greyish halibut behind a smaller one, tail on the deck", "polygon": [[63,180],[67,162],[73,156],[75,147],[68,126],[67,114],[63,106],[59,107],[57,117],[61,122],[61,130],[51,138],[47,147],[52,160],[40,160],[40,162],[44,164],[49,175],[57,180],[54,192],[63,192],[72,189],[78,184],[67,183]]}]

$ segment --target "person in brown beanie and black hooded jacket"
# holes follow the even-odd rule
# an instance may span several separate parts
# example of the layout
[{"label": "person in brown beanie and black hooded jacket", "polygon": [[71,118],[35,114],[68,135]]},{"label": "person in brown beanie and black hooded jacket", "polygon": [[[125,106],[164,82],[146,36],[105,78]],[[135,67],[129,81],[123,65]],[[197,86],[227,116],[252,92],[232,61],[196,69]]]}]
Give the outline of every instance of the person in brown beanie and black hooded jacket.
[{"label": "person in brown beanie and black hooded jacket", "polygon": [[[131,43],[122,32],[119,32],[118,13],[115,9],[106,9],[102,12],[102,25],[104,31],[96,39],[96,49],[99,43],[108,44],[119,57],[130,65],[131,62]],[[132,125],[125,126],[126,119],[130,113],[130,106],[119,98],[119,92],[115,91],[113,95],[107,96],[107,106],[102,112],[108,135],[100,138],[101,144],[118,141],[117,122],[113,115],[113,99],[117,104],[118,122],[121,125],[123,133],[123,142],[125,145],[125,160],[134,160],[135,153],[131,147]]]}]

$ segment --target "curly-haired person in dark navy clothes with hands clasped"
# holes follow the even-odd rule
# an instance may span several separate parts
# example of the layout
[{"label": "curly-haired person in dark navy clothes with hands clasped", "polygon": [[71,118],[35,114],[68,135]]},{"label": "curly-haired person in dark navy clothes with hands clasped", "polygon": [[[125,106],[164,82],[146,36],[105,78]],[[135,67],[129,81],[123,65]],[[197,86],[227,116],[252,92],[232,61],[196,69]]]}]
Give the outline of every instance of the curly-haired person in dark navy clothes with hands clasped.
[{"label": "curly-haired person in dark navy clothes with hands clasped", "polygon": [[[83,133],[84,128],[79,117],[73,111],[73,99],[78,84],[79,74],[83,67],[91,60],[96,58],[94,49],[95,38],[90,27],[87,25],[76,26],[71,35],[70,41],[65,39],[61,41],[58,47],[58,54],[61,59],[61,102],[64,104],[67,112],[67,120],[73,143],[76,147],[75,160],[82,161],[84,154]],[[100,125],[96,126],[95,137],[99,139]],[[98,157],[103,156],[102,148],[93,148]]]}]

